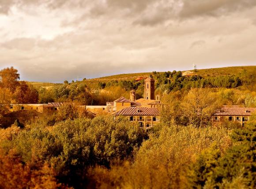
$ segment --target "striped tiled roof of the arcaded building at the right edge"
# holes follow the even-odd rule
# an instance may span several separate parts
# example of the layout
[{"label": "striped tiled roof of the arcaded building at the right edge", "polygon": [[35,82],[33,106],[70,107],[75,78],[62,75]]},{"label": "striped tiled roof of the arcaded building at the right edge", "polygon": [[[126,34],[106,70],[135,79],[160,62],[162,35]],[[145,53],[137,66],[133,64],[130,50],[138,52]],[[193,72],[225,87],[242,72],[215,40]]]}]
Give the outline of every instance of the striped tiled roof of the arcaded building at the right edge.
[{"label": "striped tiled roof of the arcaded building at the right edge", "polygon": [[214,116],[251,116],[253,112],[256,111],[256,108],[222,108],[218,110]]}]

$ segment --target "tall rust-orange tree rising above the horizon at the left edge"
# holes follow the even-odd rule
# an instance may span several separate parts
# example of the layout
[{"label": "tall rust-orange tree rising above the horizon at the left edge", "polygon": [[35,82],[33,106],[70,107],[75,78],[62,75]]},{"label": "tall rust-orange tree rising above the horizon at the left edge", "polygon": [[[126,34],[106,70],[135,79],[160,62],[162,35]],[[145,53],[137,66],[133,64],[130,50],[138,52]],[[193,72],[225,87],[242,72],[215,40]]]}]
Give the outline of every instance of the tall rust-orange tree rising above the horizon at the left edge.
[{"label": "tall rust-orange tree rising above the horizon at the left edge", "polygon": [[19,73],[14,67],[0,70],[0,86],[8,88],[11,92],[19,85]]}]

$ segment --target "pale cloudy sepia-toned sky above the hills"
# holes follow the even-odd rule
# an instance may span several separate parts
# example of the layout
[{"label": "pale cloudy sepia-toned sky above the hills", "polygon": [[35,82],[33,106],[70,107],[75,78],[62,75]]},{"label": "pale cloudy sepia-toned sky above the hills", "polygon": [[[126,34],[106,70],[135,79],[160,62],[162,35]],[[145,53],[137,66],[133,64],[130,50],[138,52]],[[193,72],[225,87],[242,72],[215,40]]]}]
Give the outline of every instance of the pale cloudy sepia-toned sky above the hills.
[{"label": "pale cloudy sepia-toned sky above the hills", "polygon": [[22,80],[256,65],[256,0],[0,0]]}]

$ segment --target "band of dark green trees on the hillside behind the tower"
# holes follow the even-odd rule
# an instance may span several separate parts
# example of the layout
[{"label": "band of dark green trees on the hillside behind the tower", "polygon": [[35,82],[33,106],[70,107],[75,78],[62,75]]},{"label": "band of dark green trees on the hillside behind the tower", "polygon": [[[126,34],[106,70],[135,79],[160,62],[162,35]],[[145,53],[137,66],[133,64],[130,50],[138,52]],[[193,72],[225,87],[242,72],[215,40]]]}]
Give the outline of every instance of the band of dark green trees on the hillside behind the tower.
[{"label": "band of dark green trees on the hillside behind the tower", "polygon": [[[245,85],[245,87],[253,87],[255,84],[256,71],[252,72],[244,71],[236,75],[226,75],[226,76],[202,76],[192,75],[190,77],[182,76],[181,71],[173,72],[152,72],[151,76],[156,80],[155,88],[160,91],[166,91],[167,93],[171,91],[179,91],[181,89],[189,90],[190,88],[201,88],[201,87],[224,87],[224,88],[237,88],[239,86]],[[101,89],[110,86],[120,86],[126,91],[132,89],[139,89],[141,91],[141,85],[144,86],[144,80],[136,82],[135,80],[111,80],[109,82],[99,82],[98,86]]]}]

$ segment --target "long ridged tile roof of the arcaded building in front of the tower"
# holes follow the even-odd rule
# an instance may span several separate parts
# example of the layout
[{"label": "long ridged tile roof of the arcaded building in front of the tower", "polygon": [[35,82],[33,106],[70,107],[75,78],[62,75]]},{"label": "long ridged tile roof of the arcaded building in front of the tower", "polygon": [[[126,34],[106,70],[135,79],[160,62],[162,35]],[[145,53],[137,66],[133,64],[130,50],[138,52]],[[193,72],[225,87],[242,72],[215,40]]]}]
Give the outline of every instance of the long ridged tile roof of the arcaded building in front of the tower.
[{"label": "long ridged tile roof of the arcaded building in front of the tower", "polygon": [[157,108],[147,108],[147,107],[128,107],[119,110],[114,113],[115,116],[158,116],[159,111]]}]

